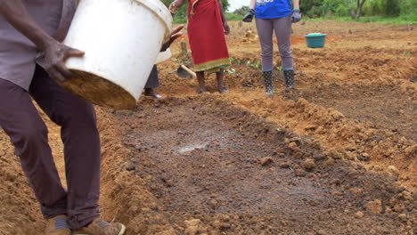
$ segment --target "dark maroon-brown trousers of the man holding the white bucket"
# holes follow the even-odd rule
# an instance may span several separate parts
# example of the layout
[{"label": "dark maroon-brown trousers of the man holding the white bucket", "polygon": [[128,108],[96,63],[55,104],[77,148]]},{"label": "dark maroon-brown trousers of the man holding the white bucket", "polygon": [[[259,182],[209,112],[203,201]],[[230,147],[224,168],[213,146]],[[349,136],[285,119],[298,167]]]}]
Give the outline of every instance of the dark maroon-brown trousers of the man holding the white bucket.
[{"label": "dark maroon-brown trousers of the man holding the white bucket", "polygon": [[[30,99],[61,126],[67,188],[48,145],[48,130]],[[67,92],[37,66],[29,93],[0,79],[0,126],[10,136],[45,219],[68,215],[71,229],[99,216],[100,136],[94,107]]]}]

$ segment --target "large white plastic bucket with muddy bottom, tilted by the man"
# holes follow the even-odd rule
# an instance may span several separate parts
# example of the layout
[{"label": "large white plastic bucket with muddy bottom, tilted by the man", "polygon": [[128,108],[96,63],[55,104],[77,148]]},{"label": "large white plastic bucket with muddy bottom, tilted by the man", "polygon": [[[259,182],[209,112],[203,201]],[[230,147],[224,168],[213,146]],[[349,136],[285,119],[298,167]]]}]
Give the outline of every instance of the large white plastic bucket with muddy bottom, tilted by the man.
[{"label": "large white plastic bucket with muddy bottom, tilted by the man", "polygon": [[75,77],[60,84],[103,107],[135,108],[171,28],[159,0],[80,1],[64,44],[86,54],[67,60]]}]

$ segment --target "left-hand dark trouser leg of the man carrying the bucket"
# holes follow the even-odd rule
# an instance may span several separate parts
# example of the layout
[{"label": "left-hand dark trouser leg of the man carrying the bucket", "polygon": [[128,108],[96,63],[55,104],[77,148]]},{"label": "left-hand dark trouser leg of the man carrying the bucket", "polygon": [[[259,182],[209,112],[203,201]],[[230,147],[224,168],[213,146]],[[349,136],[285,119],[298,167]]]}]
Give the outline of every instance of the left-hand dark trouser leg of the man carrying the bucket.
[{"label": "left-hand dark trouser leg of the man carrying the bucket", "polygon": [[4,79],[0,79],[0,126],[10,136],[45,219],[67,215],[67,193],[53,162],[45,123],[29,93]]}]

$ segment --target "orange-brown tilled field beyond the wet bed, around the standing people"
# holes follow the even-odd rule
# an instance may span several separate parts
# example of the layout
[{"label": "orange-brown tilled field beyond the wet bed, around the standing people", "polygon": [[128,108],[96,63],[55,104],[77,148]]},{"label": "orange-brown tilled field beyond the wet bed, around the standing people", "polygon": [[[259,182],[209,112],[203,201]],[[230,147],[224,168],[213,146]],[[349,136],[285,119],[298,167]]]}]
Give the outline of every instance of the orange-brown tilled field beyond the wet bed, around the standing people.
[{"label": "orange-brown tilled field beyond the wet bed, around the standing people", "polygon": [[[260,47],[254,24],[231,24],[233,65],[226,70],[227,99],[258,115],[307,134],[332,150],[348,150],[376,172],[392,172],[417,189],[417,33],[412,26],[342,23],[294,24],[291,38],[297,90],[284,91],[281,61],[274,54],[275,96],[266,99]],[[251,30],[251,31],[248,31]],[[307,48],[308,32],[327,33],[323,48]],[[184,38],[186,41],[186,37]],[[276,48],[275,48],[276,49]],[[159,65],[162,93],[189,96],[196,83],[168,74],[176,61],[189,61],[176,45],[176,60]],[[216,93],[215,79],[208,89]]]}]

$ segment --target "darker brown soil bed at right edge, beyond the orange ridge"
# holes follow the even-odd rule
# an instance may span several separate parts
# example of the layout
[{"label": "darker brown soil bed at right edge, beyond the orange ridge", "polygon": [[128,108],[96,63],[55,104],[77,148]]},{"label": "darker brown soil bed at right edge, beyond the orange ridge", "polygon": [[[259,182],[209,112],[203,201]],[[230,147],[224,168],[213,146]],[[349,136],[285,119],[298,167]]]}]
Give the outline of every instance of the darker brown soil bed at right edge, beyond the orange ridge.
[{"label": "darker brown soil bed at right edge, beyond the orange ridge", "polygon": [[284,97],[304,98],[325,108],[337,109],[347,118],[372,123],[377,128],[417,141],[416,97],[394,85],[317,85],[299,93],[284,93]]}]

